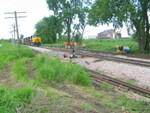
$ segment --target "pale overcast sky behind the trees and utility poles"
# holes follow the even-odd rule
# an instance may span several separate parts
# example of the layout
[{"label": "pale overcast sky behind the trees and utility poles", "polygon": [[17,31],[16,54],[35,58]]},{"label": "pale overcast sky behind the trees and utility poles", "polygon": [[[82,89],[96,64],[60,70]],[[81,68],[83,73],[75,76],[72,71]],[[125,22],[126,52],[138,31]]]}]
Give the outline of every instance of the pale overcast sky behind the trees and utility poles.
[{"label": "pale overcast sky behind the trees and utility poles", "polygon": [[[18,16],[27,16],[26,18],[18,18],[19,34],[25,37],[31,36],[35,32],[35,24],[43,17],[48,17],[52,13],[49,11],[46,0],[0,0],[0,38],[9,39],[13,30],[12,24],[15,19],[5,19],[5,17],[14,17],[13,14],[4,14],[7,12],[26,12],[18,14]],[[89,27],[85,29],[84,36],[97,35],[103,30],[113,29],[110,26]],[[121,30],[122,36],[128,36],[126,28]]]}]

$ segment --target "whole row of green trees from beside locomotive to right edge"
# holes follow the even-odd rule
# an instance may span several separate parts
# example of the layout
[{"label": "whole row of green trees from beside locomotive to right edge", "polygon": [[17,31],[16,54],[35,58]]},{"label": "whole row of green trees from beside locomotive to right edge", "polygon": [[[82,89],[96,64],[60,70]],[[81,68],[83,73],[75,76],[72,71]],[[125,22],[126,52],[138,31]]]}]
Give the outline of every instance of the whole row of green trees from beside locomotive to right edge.
[{"label": "whole row of green trees from beside locomotive to right edge", "polygon": [[[139,50],[150,51],[149,0],[46,0],[53,15],[36,25],[36,34],[44,43],[55,43],[56,33],[82,41],[86,25],[113,23],[115,29],[125,24],[138,41]],[[131,32],[132,31],[132,32]]]}]

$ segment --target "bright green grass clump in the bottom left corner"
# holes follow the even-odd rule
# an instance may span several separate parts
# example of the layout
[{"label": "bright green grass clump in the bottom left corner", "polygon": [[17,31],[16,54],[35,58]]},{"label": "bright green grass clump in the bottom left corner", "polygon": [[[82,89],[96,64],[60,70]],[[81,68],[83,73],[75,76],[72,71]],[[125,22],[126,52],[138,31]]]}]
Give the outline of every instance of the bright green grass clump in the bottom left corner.
[{"label": "bright green grass clump in the bottom left corner", "polygon": [[29,104],[35,91],[32,88],[8,89],[0,87],[0,113],[16,113],[16,109]]}]

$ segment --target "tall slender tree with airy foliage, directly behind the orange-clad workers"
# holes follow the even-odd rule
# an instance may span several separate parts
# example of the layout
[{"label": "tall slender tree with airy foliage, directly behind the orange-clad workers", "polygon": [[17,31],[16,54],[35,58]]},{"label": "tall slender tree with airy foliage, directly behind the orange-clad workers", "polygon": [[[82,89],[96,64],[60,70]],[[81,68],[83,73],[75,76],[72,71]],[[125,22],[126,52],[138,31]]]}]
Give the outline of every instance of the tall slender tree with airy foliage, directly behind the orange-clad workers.
[{"label": "tall slender tree with airy foliage, directly behind the orange-clad workers", "polygon": [[62,18],[63,24],[65,26],[65,32],[67,33],[68,36],[68,42],[70,42],[72,29],[73,28],[83,29],[84,28],[83,26],[85,26],[86,22],[85,13],[87,11],[85,9],[88,6],[87,4],[89,3],[88,2],[89,0],[46,0],[46,1],[49,9],[54,12],[54,15]]}]

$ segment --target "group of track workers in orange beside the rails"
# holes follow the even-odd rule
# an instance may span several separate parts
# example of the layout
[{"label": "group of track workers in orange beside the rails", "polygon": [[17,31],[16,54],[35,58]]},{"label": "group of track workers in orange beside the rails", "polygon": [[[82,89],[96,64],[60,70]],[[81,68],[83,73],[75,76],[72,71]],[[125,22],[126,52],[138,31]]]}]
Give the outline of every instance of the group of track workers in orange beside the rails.
[{"label": "group of track workers in orange beside the rails", "polygon": [[[86,48],[85,42],[83,42],[81,45],[82,45],[82,48],[83,48],[83,49]],[[64,46],[65,46],[65,48],[71,48],[71,49],[74,48],[74,49],[77,49],[77,48],[78,48],[78,43],[77,43],[77,42],[74,42],[74,43],[70,42],[70,43],[68,44],[67,42],[65,42],[65,43],[64,43]]]}]

